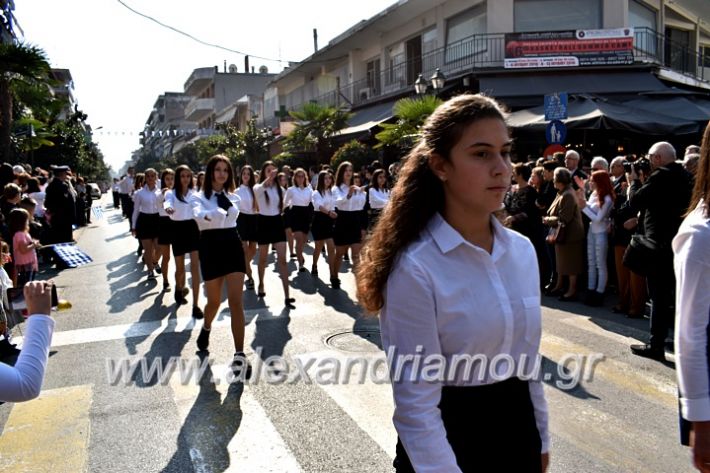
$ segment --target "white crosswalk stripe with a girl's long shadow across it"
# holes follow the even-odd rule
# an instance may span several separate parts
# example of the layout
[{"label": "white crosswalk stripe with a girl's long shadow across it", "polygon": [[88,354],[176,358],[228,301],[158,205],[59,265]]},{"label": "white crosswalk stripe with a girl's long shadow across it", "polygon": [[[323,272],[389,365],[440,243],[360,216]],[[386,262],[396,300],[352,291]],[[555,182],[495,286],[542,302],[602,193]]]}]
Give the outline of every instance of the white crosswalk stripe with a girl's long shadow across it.
[{"label": "white crosswalk stripe with a girl's long shadow across it", "polygon": [[[221,380],[225,365],[213,365],[200,382],[170,379],[183,426],[180,435],[196,472],[300,473],[296,458],[250,388]],[[226,449],[226,452],[224,451]]]}]

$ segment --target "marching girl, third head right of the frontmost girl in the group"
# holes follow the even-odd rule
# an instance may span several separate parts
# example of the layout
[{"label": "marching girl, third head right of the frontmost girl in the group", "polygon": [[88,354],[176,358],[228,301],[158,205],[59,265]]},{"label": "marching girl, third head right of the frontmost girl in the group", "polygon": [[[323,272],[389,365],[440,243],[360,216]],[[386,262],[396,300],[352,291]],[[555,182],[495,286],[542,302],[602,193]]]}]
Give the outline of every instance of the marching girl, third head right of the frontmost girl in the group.
[{"label": "marching girl, third head right of the frontmost girl in the group", "polygon": [[305,271],[306,259],[303,257],[303,247],[311,228],[311,200],[313,191],[308,184],[308,175],[303,168],[298,168],[293,173],[293,185],[286,191],[284,208],[288,209],[291,231],[296,240],[296,258],[298,270]]}]

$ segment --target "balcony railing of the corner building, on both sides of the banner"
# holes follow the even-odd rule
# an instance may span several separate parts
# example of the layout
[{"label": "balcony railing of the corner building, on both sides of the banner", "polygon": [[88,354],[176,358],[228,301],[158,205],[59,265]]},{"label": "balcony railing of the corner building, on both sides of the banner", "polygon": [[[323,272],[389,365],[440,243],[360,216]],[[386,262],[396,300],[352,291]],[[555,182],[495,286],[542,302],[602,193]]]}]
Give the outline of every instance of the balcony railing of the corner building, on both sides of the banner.
[{"label": "balcony railing of the corner building, on both sides of the banner", "polygon": [[[293,110],[305,102],[315,101],[334,107],[354,107],[407,91],[413,93],[414,81],[420,73],[428,78],[440,69],[447,77],[454,78],[474,71],[503,69],[504,59],[503,33],[473,35],[410,60],[405,60],[404,55],[395,57],[379,74],[321,95],[313,94],[313,86],[306,84],[288,94],[284,105]],[[704,62],[708,61],[706,57]],[[710,67],[703,67],[703,57],[697,51],[648,28],[634,31],[634,62],[655,64],[694,81],[710,79]]]}]

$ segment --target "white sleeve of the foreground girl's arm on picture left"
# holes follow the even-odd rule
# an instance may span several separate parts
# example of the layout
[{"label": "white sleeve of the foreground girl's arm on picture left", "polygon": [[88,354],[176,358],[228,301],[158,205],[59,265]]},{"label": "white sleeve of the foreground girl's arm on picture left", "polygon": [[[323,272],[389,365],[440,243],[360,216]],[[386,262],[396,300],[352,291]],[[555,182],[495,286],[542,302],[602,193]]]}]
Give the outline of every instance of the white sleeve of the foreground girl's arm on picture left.
[{"label": "white sleeve of the foreground girl's arm on picture left", "polygon": [[[460,473],[438,407],[442,383],[421,379],[423,370],[414,372],[413,363],[399,363],[407,355],[441,355],[432,283],[416,263],[402,263],[387,280],[380,316],[390,376],[401,371],[392,380],[394,425],[417,473]],[[418,351],[418,346],[424,351]]]}]

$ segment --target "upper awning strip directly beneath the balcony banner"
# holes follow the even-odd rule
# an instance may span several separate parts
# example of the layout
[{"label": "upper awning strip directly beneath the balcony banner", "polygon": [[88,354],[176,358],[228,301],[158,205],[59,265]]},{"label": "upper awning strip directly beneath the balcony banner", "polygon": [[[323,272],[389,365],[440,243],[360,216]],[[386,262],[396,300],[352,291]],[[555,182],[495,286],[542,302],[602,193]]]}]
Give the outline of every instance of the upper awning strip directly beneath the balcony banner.
[{"label": "upper awning strip directly beneath the balcony banner", "polygon": [[668,87],[650,72],[577,72],[481,77],[480,90],[491,97],[524,97],[553,92],[623,94],[661,91]]}]

